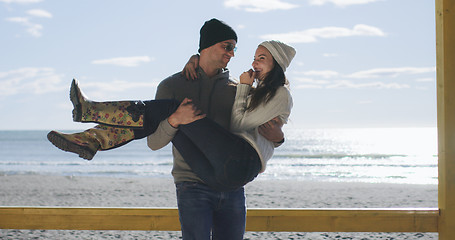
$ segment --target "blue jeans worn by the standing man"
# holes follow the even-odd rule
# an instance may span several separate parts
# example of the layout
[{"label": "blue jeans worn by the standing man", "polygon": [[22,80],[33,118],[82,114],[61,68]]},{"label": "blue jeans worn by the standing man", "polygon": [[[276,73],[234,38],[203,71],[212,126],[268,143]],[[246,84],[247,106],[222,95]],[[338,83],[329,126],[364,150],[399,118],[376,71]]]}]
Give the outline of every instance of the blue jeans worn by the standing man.
[{"label": "blue jeans worn by the standing man", "polygon": [[184,240],[243,239],[246,224],[243,187],[219,192],[201,183],[181,182],[176,189]]}]

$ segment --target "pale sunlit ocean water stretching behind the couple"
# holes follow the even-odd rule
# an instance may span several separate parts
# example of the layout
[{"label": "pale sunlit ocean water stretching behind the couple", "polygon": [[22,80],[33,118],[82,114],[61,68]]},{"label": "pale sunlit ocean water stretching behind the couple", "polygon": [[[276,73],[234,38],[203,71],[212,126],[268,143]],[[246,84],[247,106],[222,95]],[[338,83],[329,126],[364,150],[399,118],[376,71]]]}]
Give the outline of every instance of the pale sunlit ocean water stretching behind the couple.
[{"label": "pale sunlit ocean water stretching behind the couple", "polygon": [[[92,161],[55,148],[47,131],[0,131],[0,175],[171,178],[170,146],[146,141],[98,152]],[[436,128],[286,128],[261,179],[437,184]]]}]

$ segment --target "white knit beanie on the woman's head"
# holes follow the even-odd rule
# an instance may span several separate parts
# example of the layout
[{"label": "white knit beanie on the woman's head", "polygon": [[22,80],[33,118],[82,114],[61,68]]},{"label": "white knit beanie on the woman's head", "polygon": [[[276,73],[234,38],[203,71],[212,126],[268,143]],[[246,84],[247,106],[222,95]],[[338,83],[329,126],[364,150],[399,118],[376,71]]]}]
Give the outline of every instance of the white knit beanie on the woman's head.
[{"label": "white knit beanie on the woman's head", "polygon": [[293,47],[275,40],[264,41],[259,44],[259,46],[267,48],[283,69],[283,72],[286,72],[286,68],[289,67],[289,64],[295,56],[295,49]]}]

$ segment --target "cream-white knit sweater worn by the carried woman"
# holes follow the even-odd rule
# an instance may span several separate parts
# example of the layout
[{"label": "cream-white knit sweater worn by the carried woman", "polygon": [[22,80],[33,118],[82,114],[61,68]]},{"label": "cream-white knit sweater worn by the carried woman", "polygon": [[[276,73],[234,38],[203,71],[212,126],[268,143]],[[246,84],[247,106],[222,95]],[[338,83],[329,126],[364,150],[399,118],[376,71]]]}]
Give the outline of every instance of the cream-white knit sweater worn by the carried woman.
[{"label": "cream-white knit sweater worn by the carried woman", "polygon": [[292,97],[286,87],[279,87],[275,96],[267,103],[261,103],[253,111],[247,111],[251,101],[249,97],[251,86],[239,84],[232,107],[231,131],[244,138],[258,153],[264,172],[267,161],[272,157],[274,144],[258,133],[258,127],[274,117],[280,117],[287,123],[292,108]]}]

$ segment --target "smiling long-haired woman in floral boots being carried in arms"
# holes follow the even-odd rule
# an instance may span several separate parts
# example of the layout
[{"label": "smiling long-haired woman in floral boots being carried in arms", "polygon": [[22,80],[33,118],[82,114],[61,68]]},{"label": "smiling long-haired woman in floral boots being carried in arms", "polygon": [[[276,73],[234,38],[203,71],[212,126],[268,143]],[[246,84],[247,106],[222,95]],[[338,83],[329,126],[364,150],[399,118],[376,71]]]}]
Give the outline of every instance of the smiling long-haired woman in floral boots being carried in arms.
[{"label": "smiling long-haired woman in floral boots being carried in arms", "polygon": [[[91,102],[73,80],[73,120],[100,125],[82,133],[51,131],[48,139],[56,147],[92,159],[98,150],[119,147],[153,133],[158,124],[176,111],[190,110],[172,143],[192,170],[207,185],[221,191],[234,190],[265,170],[273,155],[273,143],[258,134],[258,126],[278,116],[286,123],[292,98],[284,75],[295,50],[278,41],[261,43],[253,69],[240,76],[232,109],[231,132],[205,118],[185,99]],[[257,79],[257,87],[252,88]]]}]

